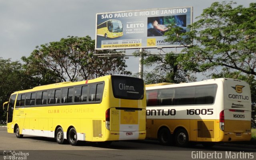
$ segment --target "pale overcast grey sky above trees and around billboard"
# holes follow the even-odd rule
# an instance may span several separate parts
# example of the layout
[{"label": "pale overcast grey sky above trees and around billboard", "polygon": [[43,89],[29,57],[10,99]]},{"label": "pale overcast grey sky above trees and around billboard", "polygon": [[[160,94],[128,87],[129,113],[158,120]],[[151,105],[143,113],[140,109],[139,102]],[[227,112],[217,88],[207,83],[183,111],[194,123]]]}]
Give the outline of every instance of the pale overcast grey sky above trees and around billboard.
[{"label": "pale overcast grey sky above trees and around billboard", "polygon": [[[67,36],[95,39],[97,13],[192,6],[195,22],[203,9],[216,1],[223,0],[0,0],[0,57],[21,61],[20,58],[28,57],[37,45]],[[255,0],[234,2],[248,7]],[[133,51],[126,49],[126,53]],[[160,51],[153,49],[152,52]],[[126,64],[126,70],[138,72],[138,58],[129,57]],[[147,70],[145,66],[144,70]]]}]

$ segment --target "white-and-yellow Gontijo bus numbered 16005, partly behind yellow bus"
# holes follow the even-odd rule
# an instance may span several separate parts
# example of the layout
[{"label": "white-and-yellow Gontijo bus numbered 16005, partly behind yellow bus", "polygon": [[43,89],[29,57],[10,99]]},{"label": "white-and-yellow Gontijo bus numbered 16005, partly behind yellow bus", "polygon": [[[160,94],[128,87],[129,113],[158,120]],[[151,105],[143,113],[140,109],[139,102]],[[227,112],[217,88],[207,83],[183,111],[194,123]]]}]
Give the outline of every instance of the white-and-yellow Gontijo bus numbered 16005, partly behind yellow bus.
[{"label": "white-and-yellow Gontijo bus numbered 16005, partly behind yellow bus", "polygon": [[146,138],[185,147],[190,142],[251,139],[251,95],[247,82],[209,79],[146,85]]}]

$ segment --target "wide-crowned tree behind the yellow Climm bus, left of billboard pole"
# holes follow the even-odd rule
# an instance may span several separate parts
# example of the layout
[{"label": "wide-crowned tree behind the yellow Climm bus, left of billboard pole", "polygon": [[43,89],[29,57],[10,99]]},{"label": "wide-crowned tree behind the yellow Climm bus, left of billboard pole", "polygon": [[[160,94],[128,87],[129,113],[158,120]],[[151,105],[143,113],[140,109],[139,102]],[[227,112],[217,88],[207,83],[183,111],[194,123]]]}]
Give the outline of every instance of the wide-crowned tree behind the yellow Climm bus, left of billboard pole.
[{"label": "wide-crowned tree behind the yellow Climm bus, left of billboard pole", "polygon": [[124,57],[98,57],[94,54],[94,46],[95,41],[89,36],[68,36],[60,41],[37,46],[29,57],[22,57],[22,60],[27,68],[32,69],[41,78],[54,77],[57,81],[78,81],[78,71],[82,79],[109,74],[131,74],[125,70],[127,66]]}]

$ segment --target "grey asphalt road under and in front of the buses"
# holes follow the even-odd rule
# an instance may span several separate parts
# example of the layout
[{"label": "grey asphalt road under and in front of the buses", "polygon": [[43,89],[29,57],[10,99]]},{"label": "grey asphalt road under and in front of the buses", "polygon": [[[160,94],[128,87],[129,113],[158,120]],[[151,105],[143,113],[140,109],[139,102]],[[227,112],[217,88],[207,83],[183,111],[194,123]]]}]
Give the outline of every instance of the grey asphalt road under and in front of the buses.
[{"label": "grey asphalt road under and in front of the buses", "polygon": [[7,133],[6,128],[1,127],[0,160],[4,158],[26,160],[241,160],[255,159],[256,146],[218,144],[207,149],[198,144],[193,148],[179,148],[162,146],[156,140],[119,141],[109,146],[81,142],[79,146],[71,146],[70,144],[57,144],[53,138],[26,135],[23,138],[16,138],[15,134]]}]

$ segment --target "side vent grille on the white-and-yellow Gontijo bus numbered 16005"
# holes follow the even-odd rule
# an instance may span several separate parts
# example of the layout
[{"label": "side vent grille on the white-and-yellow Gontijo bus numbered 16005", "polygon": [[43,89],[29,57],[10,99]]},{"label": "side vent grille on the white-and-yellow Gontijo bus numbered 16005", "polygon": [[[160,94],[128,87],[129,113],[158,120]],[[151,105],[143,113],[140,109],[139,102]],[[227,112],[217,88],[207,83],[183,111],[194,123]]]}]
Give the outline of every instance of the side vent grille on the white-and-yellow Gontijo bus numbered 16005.
[{"label": "side vent grille on the white-and-yellow Gontijo bus numbered 16005", "polygon": [[197,136],[201,138],[214,138],[214,121],[197,121]]}]

